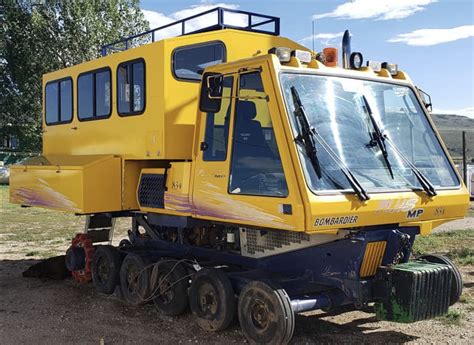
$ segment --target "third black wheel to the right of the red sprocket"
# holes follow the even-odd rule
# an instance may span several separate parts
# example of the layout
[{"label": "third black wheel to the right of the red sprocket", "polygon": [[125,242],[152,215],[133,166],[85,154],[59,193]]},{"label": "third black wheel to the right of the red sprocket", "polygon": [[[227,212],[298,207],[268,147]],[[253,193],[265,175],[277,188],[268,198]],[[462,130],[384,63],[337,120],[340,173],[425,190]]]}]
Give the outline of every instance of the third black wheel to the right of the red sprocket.
[{"label": "third black wheel to the right of the red sprocket", "polygon": [[160,260],[153,267],[151,286],[156,309],[168,316],[181,315],[188,308],[189,275],[176,260]]}]

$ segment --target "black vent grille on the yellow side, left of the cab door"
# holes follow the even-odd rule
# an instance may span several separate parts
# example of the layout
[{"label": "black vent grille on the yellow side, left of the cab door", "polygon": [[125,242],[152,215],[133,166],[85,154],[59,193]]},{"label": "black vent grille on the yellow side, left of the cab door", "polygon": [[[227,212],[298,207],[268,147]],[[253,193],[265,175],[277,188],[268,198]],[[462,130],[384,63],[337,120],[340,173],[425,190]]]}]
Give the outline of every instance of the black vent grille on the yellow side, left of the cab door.
[{"label": "black vent grille on the yellow side, left of the cab door", "polygon": [[138,187],[140,207],[165,207],[165,175],[143,174]]}]

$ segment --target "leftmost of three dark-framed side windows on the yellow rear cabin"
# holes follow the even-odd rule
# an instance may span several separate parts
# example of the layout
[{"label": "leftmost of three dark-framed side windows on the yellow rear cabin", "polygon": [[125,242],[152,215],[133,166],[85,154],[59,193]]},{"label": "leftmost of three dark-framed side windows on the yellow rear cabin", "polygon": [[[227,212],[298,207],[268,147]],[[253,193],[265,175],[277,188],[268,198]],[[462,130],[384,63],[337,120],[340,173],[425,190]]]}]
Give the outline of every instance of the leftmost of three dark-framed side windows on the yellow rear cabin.
[{"label": "leftmost of three dark-framed side windows on the yellow rear cabin", "polygon": [[72,79],[52,81],[45,88],[45,119],[47,125],[72,121]]}]

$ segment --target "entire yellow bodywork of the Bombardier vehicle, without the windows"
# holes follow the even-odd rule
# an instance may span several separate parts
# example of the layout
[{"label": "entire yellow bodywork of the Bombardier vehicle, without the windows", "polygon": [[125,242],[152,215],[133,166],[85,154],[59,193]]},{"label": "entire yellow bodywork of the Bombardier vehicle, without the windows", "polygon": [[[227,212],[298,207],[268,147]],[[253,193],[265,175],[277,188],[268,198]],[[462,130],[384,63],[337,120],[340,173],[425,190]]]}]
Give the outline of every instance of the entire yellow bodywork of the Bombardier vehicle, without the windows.
[{"label": "entire yellow bodywork of the Bombardier vehicle, without the windows", "polygon": [[[200,83],[177,80],[172,72],[172,58],[178,47],[214,41],[225,44],[229,62],[206,71],[234,74],[234,90],[242,70],[261,71],[288,186],[289,193],[285,197],[240,195],[228,191],[230,139],[225,161],[202,159],[200,144],[204,138],[206,114],[198,110]],[[413,84],[401,71],[392,77],[386,70],[375,73],[370,68],[358,71],[329,68],[315,60],[305,65],[295,57],[289,63],[281,64],[275,55],[266,53],[275,46],[306,49],[283,37],[226,29],[165,39],[45,75],[44,85],[71,77],[73,90],[76,90],[80,73],[110,67],[112,113],[108,119],[79,121],[77,93],[73,92],[73,121],[43,125],[43,155],[47,157],[47,163],[33,160],[26,167],[12,168],[12,202],[76,213],[140,210],[239,226],[328,234],[335,234],[339,229],[381,224],[416,226],[422,234],[428,234],[435,226],[465,215],[469,197],[462,184],[457,189],[439,190],[433,198],[421,192],[394,191],[371,193],[370,200],[361,202],[352,194],[312,193],[299,161],[279,73],[310,71],[379,81],[396,79],[410,87]],[[142,115],[120,117],[116,99],[117,66],[137,58],[145,61],[145,110]],[[250,92],[244,96],[253,95]],[[260,113],[261,109],[258,110]],[[230,121],[229,133],[233,133],[233,127],[234,122]],[[140,207],[136,194],[140,174],[164,173],[165,169],[164,208]],[[283,211],[284,206],[291,206],[290,214]]]}]

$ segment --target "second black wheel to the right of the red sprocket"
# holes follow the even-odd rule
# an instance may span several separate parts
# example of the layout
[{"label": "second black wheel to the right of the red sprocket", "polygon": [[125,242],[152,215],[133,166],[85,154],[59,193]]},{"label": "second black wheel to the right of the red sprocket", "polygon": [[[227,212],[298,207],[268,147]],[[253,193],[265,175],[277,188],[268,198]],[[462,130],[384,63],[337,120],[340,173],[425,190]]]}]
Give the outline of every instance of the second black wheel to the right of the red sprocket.
[{"label": "second black wheel to the right of the red sprocket", "polygon": [[149,268],[139,255],[129,253],[120,268],[120,288],[124,299],[131,305],[141,305],[149,297]]}]

